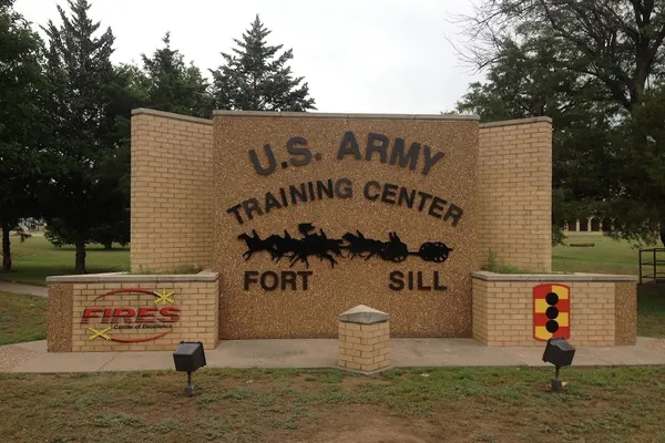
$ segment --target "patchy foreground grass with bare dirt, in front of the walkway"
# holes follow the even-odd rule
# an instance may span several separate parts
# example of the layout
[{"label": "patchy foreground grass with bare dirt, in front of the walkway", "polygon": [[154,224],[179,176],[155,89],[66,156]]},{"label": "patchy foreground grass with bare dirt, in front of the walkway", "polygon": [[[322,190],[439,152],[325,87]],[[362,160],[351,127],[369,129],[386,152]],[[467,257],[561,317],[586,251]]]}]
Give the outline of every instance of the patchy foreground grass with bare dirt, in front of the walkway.
[{"label": "patchy foreground grass with bare dirt, in front of the walkway", "polygon": [[[423,377],[427,374],[428,377]],[[0,374],[11,442],[658,442],[665,368]]]}]

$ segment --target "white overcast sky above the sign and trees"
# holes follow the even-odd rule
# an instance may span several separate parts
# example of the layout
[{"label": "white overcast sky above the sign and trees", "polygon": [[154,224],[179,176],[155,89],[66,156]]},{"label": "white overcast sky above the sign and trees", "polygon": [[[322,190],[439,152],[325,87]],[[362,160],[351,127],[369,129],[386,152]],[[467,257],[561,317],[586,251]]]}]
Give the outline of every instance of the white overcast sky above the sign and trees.
[{"label": "white overcast sky above the sign and trees", "polygon": [[[427,113],[450,111],[470,82],[481,80],[457,56],[454,16],[478,0],[91,0],[90,14],[111,27],[114,62],[140,61],[171,31],[187,62],[217,68],[256,13],[273,32],[269,44],[294,50],[293,73],[305,76],[319,112]],[[65,0],[17,0],[33,25]]]}]

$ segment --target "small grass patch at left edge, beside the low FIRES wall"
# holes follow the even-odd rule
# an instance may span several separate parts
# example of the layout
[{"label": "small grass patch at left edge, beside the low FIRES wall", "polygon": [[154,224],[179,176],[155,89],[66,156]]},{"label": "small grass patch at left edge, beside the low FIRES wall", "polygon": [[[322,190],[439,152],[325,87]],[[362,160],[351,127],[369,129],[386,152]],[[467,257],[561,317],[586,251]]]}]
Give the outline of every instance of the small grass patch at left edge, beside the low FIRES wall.
[{"label": "small grass patch at left edge, beside the low FIRES wall", "polygon": [[0,292],[0,346],[47,338],[47,299]]}]

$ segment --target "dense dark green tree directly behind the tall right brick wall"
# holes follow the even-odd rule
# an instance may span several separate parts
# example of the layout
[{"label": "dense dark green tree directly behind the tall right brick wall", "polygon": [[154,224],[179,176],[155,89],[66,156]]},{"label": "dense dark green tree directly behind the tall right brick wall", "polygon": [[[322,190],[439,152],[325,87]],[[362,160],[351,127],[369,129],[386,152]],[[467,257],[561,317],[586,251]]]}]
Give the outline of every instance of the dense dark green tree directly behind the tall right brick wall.
[{"label": "dense dark green tree directly behind the tall right brick wall", "polygon": [[488,68],[485,83],[475,82],[458,102],[461,113],[482,122],[549,116],[553,120],[553,240],[561,226],[612,190],[600,158],[612,132],[612,110],[596,101],[597,89],[559,61],[559,49],[546,35],[520,35],[504,42]]}]

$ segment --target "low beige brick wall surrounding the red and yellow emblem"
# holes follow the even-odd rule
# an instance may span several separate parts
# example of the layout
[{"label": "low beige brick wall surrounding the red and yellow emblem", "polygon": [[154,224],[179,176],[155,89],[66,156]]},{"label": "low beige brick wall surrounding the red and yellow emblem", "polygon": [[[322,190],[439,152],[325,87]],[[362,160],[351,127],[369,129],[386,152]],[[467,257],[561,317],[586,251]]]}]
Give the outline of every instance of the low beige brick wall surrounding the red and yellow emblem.
[{"label": "low beige brick wall surrounding the red and yellow emblem", "polygon": [[[533,287],[541,284],[540,281],[487,281],[473,278],[473,338],[488,346],[542,347],[543,341],[533,339],[532,313]],[[621,320],[615,315],[617,284],[606,281],[561,281],[561,284],[571,288],[570,342],[577,346],[615,346],[616,322]],[[633,339],[635,333],[635,329],[626,332]]]}]

